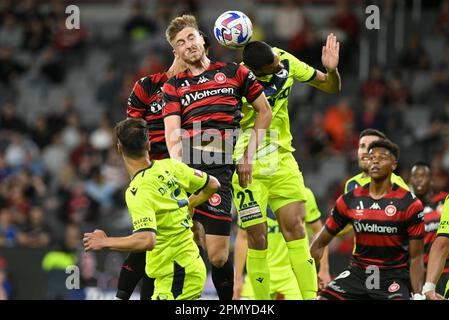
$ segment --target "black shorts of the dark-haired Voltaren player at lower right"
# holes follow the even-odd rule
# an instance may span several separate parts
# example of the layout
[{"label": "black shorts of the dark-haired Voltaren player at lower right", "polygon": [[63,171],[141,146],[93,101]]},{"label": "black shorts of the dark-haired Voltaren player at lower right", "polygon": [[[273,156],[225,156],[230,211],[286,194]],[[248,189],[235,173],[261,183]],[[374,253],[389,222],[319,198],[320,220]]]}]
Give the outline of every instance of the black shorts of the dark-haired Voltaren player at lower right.
[{"label": "black shorts of the dark-haired Voltaren player at lower right", "polygon": [[377,270],[378,273],[351,265],[319,295],[328,300],[410,300],[410,277],[406,268]]}]

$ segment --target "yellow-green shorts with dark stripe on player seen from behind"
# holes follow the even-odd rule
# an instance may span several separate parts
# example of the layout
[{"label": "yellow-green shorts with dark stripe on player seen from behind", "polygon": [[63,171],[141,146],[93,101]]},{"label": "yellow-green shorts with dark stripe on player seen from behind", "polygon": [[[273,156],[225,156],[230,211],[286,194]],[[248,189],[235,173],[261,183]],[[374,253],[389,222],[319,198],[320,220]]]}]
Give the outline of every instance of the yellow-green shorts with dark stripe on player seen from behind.
[{"label": "yellow-green shorts with dark stripe on player seen from behind", "polygon": [[173,273],[157,277],[154,281],[152,300],[197,300],[206,283],[206,266],[198,256],[190,264],[181,267],[173,263]]}]

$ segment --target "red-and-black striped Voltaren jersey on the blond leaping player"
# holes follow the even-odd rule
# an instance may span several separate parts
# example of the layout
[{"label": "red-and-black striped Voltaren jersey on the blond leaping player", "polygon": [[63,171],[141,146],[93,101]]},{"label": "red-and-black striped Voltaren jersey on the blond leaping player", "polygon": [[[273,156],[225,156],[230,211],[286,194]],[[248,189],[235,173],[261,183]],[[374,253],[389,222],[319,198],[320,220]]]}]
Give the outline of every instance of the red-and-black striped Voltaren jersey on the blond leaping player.
[{"label": "red-and-black striped Voltaren jersey on the blond leaping player", "polygon": [[189,138],[218,130],[221,140],[229,138],[227,129],[237,129],[242,118],[242,97],[249,103],[259,97],[263,87],[254,74],[237,63],[211,62],[198,76],[188,70],[170,78],[163,86],[166,103],[164,117],[179,115],[181,128]]}]

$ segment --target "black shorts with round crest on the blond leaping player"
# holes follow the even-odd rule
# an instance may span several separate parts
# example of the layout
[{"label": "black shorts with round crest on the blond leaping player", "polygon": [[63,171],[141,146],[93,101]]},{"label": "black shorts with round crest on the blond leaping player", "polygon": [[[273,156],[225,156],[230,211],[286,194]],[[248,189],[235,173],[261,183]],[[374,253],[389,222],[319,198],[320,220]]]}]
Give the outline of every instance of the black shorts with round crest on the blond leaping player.
[{"label": "black shorts with round crest on the blond leaping player", "polygon": [[193,165],[217,178],[221,184],[220,190],[208,201],[195,208],[193,220],[203,225],[205,234],[229,236],[232,222],[232,175],[234,165]]}]

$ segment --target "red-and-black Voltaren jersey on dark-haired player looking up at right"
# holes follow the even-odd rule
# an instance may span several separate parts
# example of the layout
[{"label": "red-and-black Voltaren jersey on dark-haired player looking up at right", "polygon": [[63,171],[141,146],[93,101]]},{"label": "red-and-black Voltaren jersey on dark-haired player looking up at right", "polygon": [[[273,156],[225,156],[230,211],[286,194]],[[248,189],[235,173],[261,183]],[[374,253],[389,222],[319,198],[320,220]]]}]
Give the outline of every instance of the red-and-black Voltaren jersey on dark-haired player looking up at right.
[{"label": "red-and-black Voltaren jersey on dark-haired player looking up at right", "polygon": [[369,184],[340,196],[325,228],[336,235],[348,223],[355,233],[352,262],[362,267],[406,267],[409,240],[424,237],[421,201],[397,184],[377,200],[370,197]]}]

